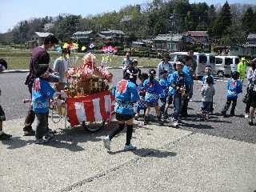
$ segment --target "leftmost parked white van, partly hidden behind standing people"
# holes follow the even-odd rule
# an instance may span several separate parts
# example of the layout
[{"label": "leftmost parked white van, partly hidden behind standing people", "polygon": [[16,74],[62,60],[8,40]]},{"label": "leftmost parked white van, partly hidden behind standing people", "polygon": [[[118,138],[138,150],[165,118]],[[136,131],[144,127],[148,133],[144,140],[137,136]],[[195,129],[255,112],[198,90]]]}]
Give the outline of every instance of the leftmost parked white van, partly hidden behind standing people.
[{"label": "leftmost parked white van, partly hidden behind standing people", "polygon": [[[178,60],[185,61],[186,56],[188,56],[187,52],[174,52],[170,54],[170,62],[174,64],[174,62]],[[194,52],[193,59],[197,62],[197,68],[195,71],[196,77],[202,77],[205,74],[205,68],[207,63],[206,54]]]}]

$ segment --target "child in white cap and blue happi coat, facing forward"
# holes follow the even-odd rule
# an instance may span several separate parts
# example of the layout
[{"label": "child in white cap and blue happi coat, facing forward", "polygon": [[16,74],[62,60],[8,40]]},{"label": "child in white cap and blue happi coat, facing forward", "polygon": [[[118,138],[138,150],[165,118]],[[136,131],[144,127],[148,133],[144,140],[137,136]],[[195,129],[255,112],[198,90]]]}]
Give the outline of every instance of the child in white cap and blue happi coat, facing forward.
[{"label": "child in white cap and blue happi coat, facing forward", "polygon": [[174,95],[174,114],[173,125],[178,126],[179,112],[182,108],[184,98],[188,97],[190,83],[187,80],[186,74],[182,72],[183,63],[175,62],[176,70],[173,74],[169,74],[168,81],[170,82],[169,93]]}]

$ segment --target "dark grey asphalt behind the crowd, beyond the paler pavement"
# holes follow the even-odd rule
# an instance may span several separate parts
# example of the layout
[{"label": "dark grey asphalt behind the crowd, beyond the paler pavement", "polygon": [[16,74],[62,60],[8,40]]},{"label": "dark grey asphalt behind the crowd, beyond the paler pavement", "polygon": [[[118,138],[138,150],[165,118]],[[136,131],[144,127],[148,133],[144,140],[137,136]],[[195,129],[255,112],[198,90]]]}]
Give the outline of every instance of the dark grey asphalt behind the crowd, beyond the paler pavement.
[{"label": "dark grey asphalt behind the crowd, beyond the paler pavement", "polygon": [[[122,76],[122,70],[112,70],[114,82]],[[0,74],[0,88],[2,90],[1,105],[6,111],[8,120],[24,118],[28,104],[22,104],[22,99],[29,98],[27,87],[23,84],[26,74]],[[244,90],[245,90],[244,86]],[[214,96],[214,114],[207,122],[201,122],[196,114],[201,105],[199,95],[200,84],[194,84],[194,102],[190,102],[190,117],[182,120],[180,129],[195,133],[210,134],[222,138],[230,138],[243,142],[256,143],[256,127],[248,125],[248,119],[243,118],[245,105],[242,103],[242,94],[239,95],[235,117],[223,118],[220,110],[225,105],[226,79],[216,82],[216,95]],[[170,112],[172,109],[170,109]],[[7,129],[7,128],[6,128]],[[22,129],[22,127],[21,127]]]}]

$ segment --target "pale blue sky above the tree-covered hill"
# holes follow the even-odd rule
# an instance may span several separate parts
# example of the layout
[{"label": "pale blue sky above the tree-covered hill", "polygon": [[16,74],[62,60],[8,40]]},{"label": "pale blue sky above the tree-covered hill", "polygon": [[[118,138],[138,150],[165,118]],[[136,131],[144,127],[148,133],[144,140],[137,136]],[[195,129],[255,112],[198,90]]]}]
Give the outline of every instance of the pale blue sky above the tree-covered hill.
[{"label": "pale blue sky above the tree-covered hill", "polygon": [[[122,6],[141,4],[147,0],[0,0],[0,33],[6,32],[19,21],[61,13],[98,14],[119,10]],[[209,4],[224,3],[226,0],[190,0],[190,2],[207,2]],[[228,2],[248,3],[256,0],[228,0]]]}]

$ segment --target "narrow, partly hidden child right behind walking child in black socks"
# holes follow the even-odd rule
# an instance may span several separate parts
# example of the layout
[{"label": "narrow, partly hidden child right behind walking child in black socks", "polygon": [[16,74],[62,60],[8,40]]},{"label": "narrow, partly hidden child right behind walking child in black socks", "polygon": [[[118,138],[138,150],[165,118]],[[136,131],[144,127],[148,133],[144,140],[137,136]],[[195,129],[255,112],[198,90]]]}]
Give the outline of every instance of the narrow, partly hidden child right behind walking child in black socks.
[{"label": "narrow, partly hidden child right behind walking child in black socks", "polygon": [[139,100],[136,102],[136,114],[135,114],[135,119],[139,117],[139,112],[143,110],[143,114],[145,115],[146,113],[146,102],[145,102],[145,95],[146,95],[146,89],[143,86],[143,82],[149,78],[148,74],[140,74],[138,76],[138,79],[141,81],[141,83],[138,85],[138,95],[139,95]]}]

